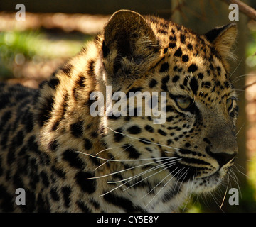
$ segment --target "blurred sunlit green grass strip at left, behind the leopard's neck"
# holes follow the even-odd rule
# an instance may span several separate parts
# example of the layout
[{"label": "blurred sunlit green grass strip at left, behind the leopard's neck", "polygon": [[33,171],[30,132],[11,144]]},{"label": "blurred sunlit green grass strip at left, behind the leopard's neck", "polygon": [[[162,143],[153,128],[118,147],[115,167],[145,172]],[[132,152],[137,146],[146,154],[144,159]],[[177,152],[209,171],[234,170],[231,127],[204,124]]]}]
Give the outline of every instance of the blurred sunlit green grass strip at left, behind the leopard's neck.
[{"label": "blurred sunlit green grass strip at left, behind the leopard's neck", "polygon": [[80,51],[89,35],[53,37],[40,31],[8,31],[0,33],[0,79],[13,76],[14,65],[58,57],[68,58]]}]

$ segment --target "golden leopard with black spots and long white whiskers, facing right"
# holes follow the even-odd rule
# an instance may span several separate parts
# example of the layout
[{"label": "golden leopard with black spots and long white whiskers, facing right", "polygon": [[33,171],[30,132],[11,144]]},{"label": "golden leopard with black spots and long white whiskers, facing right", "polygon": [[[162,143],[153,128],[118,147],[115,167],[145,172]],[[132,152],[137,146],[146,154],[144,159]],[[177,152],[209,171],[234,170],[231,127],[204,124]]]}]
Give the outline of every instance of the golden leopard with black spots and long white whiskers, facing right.
[{"label": "golden leopard with black spots and long white whiskers, facing right", "polygon": [[[1,82],[1,212],[179,212],[218,189],[238,153],[237,33],[123,9],[38,89]],[[129,106],[142,92],[148,115]]]}]

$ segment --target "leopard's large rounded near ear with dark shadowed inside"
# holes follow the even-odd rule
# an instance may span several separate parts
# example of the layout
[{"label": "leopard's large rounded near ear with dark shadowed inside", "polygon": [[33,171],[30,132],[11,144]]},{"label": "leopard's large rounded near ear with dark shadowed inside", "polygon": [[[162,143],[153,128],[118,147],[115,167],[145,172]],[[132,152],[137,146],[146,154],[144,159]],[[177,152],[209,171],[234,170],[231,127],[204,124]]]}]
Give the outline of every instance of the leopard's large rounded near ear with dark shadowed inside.
[{"label": "leopard's large rounded near ear with dark shadowed inside", "polygon": [[118,77],[137,79],[159,55],[159,45],[145,19],[134,11],[120,10],[104,29],[103,63],[114,81]]}]

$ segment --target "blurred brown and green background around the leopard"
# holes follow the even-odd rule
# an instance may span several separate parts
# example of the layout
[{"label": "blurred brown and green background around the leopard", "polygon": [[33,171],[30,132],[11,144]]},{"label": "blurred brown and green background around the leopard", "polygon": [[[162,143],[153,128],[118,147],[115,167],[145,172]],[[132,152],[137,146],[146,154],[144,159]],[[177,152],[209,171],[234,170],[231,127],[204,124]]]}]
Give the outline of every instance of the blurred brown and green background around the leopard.
[{"label": "blurred brown and green background around the leopard", "polygon": [[[237,1],[237,0],[235,0]],[[232,0],[1,0],[0,80],[38,87],[63,62],[80,51],[114,11],[130,9],[158,15],[206,33],[231,22],[238,24],[238,40],[230,77],[238,92],[239,155],[227,185],[204,196],[193,196],[183,212],[256,212],[256,1],[240,1],[252,7],[230,21]],[[16,5],[26,8],[25,21],[16,20]],[[240,7],[240,10],[242,6]],[[255,15],[253,14],[255,13]],[[21,14],[18,14],[21,16]],[[253,17],[255,16],[255,17]],[[1,101],[1,100],[0,100]],[[233,178],[233,179],[231,179]],[[239,190],[239,205],[230,205],[227,189]]]}]

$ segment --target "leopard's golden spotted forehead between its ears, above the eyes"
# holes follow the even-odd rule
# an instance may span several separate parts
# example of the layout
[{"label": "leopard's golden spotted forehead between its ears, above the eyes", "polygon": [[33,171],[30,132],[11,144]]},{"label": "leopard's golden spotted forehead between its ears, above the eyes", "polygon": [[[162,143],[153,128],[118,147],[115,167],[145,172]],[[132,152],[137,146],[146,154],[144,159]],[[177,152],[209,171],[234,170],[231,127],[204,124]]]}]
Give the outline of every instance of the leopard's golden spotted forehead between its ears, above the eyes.
[{"label": "leopard's golden spotted forehead between its ears, above the eyes", "polygon": [[[164,84],[168,83],[176,93],[192,97],[206,98],[214,92],[229,96],[233,92],[225,59],[204,35],[161,18],[149,17],[147,21],[161,43],[161,60],[148,74],[161,84],[161,90],[166,91]],[[152,84],[156,82],[151,80],[149,87]]]}]

